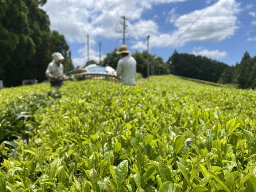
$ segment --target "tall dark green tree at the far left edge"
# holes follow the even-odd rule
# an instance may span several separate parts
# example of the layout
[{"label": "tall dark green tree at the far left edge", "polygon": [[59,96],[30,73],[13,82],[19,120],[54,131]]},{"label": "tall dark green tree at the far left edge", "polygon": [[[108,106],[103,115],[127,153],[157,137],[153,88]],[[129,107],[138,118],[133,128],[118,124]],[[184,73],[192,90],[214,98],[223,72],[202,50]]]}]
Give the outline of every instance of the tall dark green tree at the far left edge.
[{"label": "tall dark green tree at the far left edge", "polygon": [[36,45],[30,36],[29,9],[24,0],[7,0],[0,6],[0,58],[3,61],[0,75],[4,86],[16,86],[21,84],[21,78],[28,73],[23,70],[26,61],[35,54]]}]

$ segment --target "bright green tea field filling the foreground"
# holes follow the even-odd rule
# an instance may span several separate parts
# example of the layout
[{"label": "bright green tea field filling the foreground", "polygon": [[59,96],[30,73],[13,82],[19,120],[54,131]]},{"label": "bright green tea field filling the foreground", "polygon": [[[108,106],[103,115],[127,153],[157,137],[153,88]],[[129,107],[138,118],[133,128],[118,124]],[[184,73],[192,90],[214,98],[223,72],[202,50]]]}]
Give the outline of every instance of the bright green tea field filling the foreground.
[{"label": "bright green tea field filling the foreground", "polygon": [[0,90],[1,192],[255,192],[256,91],[154,76]]}]

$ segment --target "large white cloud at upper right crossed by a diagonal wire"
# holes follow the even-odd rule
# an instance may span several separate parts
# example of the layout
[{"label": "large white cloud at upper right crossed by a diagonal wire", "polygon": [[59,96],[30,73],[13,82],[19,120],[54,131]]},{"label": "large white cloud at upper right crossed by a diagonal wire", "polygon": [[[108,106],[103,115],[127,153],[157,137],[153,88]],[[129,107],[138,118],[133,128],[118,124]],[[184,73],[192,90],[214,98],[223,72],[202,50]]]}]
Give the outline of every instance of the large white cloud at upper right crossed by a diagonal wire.
[{"label": "large white cloud at upper right crossed by a diagonal wire", "polygon": [[[209,6],[193,25],[191,23],[204,10],[195,10],[189,14],[182,15],[174,23],[177,31],[173,35],[182,35],[182,38],[179,39],[181,45],[189,41],[218,42],[230,38],[234,35],[235,30],[238,29],[237,17],[235,15],[241,11],[239,6],[240,3],[237,3],[235,0],[219,0],[217,3]],[[186,32],[186,29],[189,30]]]}]

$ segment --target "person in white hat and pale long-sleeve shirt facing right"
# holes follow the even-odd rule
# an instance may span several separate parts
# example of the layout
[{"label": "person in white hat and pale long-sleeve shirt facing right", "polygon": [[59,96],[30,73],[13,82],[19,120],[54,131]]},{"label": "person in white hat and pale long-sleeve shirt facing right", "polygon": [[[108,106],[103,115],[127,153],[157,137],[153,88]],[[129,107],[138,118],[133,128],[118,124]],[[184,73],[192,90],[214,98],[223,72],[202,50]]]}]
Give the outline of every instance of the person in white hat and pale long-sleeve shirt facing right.
[{"label": "person in white hat and pale long-sleeve shirt facing right", "polygon": [[52,62],[48,64],[45,75],[49,78],[52,87],[60,87],[63,84],[63,80],[67,80],[63,73],[63,64],[61,62],[64,57],[59,52],[54,52],[52,54]]}]

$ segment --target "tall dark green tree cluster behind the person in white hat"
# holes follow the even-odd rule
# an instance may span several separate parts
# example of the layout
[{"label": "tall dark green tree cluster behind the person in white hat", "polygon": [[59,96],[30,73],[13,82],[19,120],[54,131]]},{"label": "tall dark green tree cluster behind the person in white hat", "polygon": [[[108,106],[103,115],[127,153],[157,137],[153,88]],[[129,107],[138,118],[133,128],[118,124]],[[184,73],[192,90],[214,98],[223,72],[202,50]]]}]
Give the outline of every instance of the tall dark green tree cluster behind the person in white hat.
[{"label": "tall dark green tree cluster behind the person in white hat", "polygon": [[23,79],[44,81],[53,52],[66,58],[65,70],[73,69],[64,35],[51,31],[49,17],[40,9],[47,0],[0,1],[0,79],[4,87]]}]

